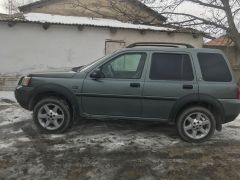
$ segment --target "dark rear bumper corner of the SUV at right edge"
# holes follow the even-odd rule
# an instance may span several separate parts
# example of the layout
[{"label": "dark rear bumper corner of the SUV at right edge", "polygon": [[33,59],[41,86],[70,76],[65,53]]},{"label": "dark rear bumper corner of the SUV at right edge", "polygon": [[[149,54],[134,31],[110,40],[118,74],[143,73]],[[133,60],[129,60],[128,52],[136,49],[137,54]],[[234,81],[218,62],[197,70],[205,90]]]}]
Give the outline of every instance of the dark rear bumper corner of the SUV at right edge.
[{"label": "dark rear bumper corner of the SUV at right edge", "polygon": [[238,99],[221,99],[223,105],[225,117],[222,124],[231,122],[237,118],[240,113],[240,100]]}]

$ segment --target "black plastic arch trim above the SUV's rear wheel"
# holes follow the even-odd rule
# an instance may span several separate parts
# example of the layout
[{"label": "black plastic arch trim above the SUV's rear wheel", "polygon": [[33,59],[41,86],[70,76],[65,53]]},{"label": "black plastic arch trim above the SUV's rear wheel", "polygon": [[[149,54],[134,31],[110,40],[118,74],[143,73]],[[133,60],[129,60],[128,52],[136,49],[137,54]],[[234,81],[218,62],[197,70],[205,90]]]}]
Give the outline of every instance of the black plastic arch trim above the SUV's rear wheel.
[{"label": "black plastic arch trim above the SUV's rear wheel", "polygon": [[191,94],[177,100],[170,112],[170,123],[175,124],[179,114],[191,106],[202,106],[209,109],[215,116],[217,130],[221,130],[225,117],[224,108],[216,98],[206,94]]}]

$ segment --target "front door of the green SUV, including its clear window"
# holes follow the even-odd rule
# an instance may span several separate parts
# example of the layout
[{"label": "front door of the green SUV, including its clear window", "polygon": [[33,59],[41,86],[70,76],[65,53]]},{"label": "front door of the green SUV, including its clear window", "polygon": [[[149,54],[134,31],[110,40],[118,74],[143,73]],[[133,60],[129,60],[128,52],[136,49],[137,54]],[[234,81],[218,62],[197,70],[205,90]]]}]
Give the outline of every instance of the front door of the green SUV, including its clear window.
[{"label": "front door of the green SUV, including its clear window", "polygon": [[124,53],[95,68],[103,78],[92,79],[90,72],[82,91],[84,113],[140,117],[146,59],[147,53]]}]

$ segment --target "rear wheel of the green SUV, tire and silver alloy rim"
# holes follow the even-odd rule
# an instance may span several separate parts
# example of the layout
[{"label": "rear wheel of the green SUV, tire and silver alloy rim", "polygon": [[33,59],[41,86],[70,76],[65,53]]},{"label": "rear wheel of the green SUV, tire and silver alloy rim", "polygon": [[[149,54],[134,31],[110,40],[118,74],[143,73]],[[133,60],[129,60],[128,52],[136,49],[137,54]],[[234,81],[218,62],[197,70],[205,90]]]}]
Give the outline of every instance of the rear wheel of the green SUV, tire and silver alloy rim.
[{"label": "rear wheel of the green SUV, tire and silver alloy rim", "polygon": [[208,109],[191,107],[180,114],[177,129],[183,140],[200,143],[213,136],[216,129],[216,120]]}]

